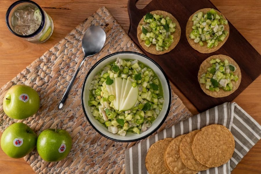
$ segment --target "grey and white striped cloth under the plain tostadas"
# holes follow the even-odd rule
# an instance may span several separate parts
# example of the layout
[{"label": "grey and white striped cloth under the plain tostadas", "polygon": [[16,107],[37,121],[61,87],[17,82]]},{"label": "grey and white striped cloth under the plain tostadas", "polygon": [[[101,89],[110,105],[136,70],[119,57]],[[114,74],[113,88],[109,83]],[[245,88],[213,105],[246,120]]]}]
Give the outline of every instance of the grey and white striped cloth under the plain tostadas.
[{"label": "grey and white striped cloth under the plain tostadas", "polygon": [[192,116],[127,149],[125,151],[126,174],[148,173],[145,157],[149,147],[156,141],[168,137],[174,138],[209,124],[222,124],[231,131],[235,138],[235,151],[226,164],[201,171],[199,174],[230,174],[261,137],[261,126],[235,102],[227,102]]}]

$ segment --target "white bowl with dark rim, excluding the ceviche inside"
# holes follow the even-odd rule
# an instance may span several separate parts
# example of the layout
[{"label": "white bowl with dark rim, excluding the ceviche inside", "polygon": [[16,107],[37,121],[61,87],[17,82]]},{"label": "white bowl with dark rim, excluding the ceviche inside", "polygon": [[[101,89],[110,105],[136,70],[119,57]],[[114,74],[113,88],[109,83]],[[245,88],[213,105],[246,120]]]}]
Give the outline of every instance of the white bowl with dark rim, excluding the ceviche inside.
[{"label": "white bowl with dark rim, excluding the ceviche inside", "polygon": [[[93,77],[102,69],[105,65],[107,65],[110,62],[116,61],[117,57],[121,59],[129,59],[129,60],[138,60],[151,69],[157,74],[158,78],[160,79],[162,89],[163,89],[163,97],[164,97],[164,104],[162,107],[162,111],[160,111],[160,114],[158,117],[153,121],[150,128],[148,128],[145,132],[142,132],[140,134],[136,133],[127,133],[126,136],[120,136],[117,134],[113,134],[108,132],[108,129],[104,127],[98,120],[95,120],[94,116],[90,112],[90,107],[88,106],[88,100],[89,100],[89,86],[91,84],[91,81]],[[99,60],[93,67],[90,69],[88,74],[86,75],[84,79],[84,83],[81,90],[81,104],[84,111],[84,114],[90,123],[90,125],[95,129],[98,133],[103,135],[106,138],[109,138],[114,141],[119,142],[133,142],[138,141],[143,138],[148,137],[152,133],[154,133],[162,123],[165,121],[166,117],[168,116],[170,106],[171,106],[171,87],[168,81],[168,78],[163,71],[163,69],[151,58],[148,58],[147,56],[136,53],[136,52],[116,52],[113,54],[110,54],[101,60]]]}]

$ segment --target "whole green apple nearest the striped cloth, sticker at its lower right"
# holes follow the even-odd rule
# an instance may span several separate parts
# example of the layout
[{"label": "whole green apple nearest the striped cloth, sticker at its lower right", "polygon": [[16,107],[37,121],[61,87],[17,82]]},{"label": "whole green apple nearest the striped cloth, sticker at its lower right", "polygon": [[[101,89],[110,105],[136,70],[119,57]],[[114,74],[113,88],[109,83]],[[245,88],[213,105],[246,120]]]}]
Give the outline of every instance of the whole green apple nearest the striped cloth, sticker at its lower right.
[{"label": "whole green apple nearest the striped cloth, sticker at its lower right", "polygon": [[55,162],[64,159],[72,148],[72,138],[63,129],[46,129],[37,139],[37,151],[42,159]]}]

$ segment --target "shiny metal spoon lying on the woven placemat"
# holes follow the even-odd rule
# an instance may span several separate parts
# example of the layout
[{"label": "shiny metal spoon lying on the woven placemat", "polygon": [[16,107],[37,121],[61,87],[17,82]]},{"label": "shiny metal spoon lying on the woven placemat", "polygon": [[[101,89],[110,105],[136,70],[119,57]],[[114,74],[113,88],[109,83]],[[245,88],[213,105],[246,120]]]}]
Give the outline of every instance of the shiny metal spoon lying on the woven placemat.
[{"label": "shiny metal spoon lying on the woven placemat", "polygon": [[64,102],[68,97],[68,94],[70,92],[70,89],[73,86],[73,82],[82,66],[82,64],[85,61],[86,57],[89,56],[93,56],[95,54],[97,54],[98,52],[100,52],[100,50],[102,49],[102,47],[104,46],[106,40],[106,34],[105,32],[102,30],[102,28],[100,28],[99,26],[90,26],[86,32],[84,33],[84,36],[82,38],[82,50],[84,52],[84,58],[81,61],[80,66],[78,67],[78,69],[75,71],[72,80],[70,81],[63,98],[61,99],[61,102],[58,106],[59,109],[61,109],[64,106]]}]

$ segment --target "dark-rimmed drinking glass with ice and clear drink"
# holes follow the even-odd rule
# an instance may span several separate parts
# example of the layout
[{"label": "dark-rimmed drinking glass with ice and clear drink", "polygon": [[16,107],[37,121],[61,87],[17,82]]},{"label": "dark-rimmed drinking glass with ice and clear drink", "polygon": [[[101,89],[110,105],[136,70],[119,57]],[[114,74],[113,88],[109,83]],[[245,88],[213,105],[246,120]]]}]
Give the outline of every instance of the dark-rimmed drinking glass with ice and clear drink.
[{"label": "dark-rimmed drinking glass with ice and clear drink", "polygon": [[13,34],[32,43],[47,41],[53,31],[51,17],[30,0],[16,1],[8,8],[6,25]]}]

